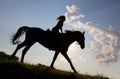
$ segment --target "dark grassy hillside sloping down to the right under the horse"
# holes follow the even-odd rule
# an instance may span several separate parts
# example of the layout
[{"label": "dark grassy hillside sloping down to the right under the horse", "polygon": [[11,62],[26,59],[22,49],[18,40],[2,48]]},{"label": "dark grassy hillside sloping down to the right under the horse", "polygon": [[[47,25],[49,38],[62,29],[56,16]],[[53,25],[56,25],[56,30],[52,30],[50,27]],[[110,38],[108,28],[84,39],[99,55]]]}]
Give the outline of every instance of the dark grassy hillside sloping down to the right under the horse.
[{"label": "dark grassy hillside sloping down to the right under the horse", "polygon": [[0,79],[109,79],[102,75],[75,74],[58,69],[50,69],[45,65],[21,63],[18,57],[0,52]]}]

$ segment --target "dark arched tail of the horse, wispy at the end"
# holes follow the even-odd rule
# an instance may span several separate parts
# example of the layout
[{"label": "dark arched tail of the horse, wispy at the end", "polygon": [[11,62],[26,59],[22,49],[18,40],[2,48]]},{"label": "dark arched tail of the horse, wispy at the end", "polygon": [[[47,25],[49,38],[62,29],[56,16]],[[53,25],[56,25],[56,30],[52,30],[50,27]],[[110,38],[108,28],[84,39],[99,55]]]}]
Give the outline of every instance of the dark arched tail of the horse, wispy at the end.
[{"label": "dark arched tail of the horse, wispy at the end", "polygon": [[13,36],[12,38],[12,44],[19,44],[19,37],[24,34],[27,30],[28,30],[28,26],[22,26],[18,29],[18,31],[16,32],[16,34]]}]

